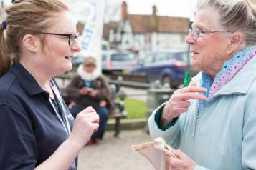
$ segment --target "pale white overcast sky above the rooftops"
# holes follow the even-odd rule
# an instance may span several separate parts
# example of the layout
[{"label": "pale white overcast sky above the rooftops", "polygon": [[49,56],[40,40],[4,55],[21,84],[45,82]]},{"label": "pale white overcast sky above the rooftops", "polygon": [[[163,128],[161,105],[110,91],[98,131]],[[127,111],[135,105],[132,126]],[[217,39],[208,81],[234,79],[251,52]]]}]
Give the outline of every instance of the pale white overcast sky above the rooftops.
[{"label": "pale white overcast sky above the rooftops", "polygon": [[[1,1],[1,0],[0,0]],[[70,11],[77,20],[86,21],[90,14],[90,1],[95,0],[65,0]],[[129,14],[151,14],[152,6],[156,5],[158,16],[191,17],[196,0],[126,0]],[[119,21],[120,6],[123,0],[105,0],[105,22]],[[4,0],[10,4],[11,0]]]}]

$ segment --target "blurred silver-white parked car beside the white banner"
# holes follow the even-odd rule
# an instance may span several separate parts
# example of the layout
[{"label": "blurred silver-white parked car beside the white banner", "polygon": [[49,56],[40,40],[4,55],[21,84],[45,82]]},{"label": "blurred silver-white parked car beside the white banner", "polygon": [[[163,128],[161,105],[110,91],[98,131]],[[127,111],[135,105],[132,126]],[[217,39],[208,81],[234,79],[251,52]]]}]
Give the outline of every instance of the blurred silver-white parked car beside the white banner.
[{"label": "blurred silver-white parked car beside the white banner", "polygon": [[105,74],[130,71],[135,66],[136,59],[130,51],[103,51],[102,69]]}]

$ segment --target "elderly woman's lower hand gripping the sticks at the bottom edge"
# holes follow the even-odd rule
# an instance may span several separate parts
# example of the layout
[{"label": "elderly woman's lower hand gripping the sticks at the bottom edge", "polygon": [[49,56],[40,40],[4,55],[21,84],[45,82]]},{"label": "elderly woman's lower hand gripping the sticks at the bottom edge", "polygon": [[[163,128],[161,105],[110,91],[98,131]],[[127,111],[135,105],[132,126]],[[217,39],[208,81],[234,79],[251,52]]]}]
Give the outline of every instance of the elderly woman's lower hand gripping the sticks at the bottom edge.
[{"label": "elderly woman's lower hand gripping the sticks at the bottom edge", "polygon": [[166,162],[169,170],[194,170],[196,167],[196,162],[193,161],[189,156],[179,150],[172,150],[171,152],[175,154],[177,158],[166,156]]}]

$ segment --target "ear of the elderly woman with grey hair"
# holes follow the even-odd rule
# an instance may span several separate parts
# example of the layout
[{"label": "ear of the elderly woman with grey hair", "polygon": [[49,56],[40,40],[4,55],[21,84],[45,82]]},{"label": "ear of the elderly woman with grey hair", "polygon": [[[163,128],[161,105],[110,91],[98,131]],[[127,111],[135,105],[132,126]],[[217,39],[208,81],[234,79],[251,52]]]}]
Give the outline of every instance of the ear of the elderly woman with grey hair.
[{"label": "ear of the elderly woman with grey hair", "polygon": [[232,54],[234,51],[242,49],[245,46],[244,36],[241,32],[234,32],[230,39],[228,53]]}]

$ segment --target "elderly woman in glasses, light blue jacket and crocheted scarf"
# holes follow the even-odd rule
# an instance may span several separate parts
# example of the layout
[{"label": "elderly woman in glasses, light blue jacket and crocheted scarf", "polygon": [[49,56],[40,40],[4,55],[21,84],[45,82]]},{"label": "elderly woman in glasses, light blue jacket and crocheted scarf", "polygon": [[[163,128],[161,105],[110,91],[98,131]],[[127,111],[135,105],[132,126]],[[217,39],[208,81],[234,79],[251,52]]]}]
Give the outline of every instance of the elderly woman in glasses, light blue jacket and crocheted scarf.
[{"label": "elderly woman in glasses, light blue jacket and crocheted scarf", "polygon": [[148,120],[169,169],[256,169],[256,15],[244,0],[199,0],[186,37],[201,72]]}]

